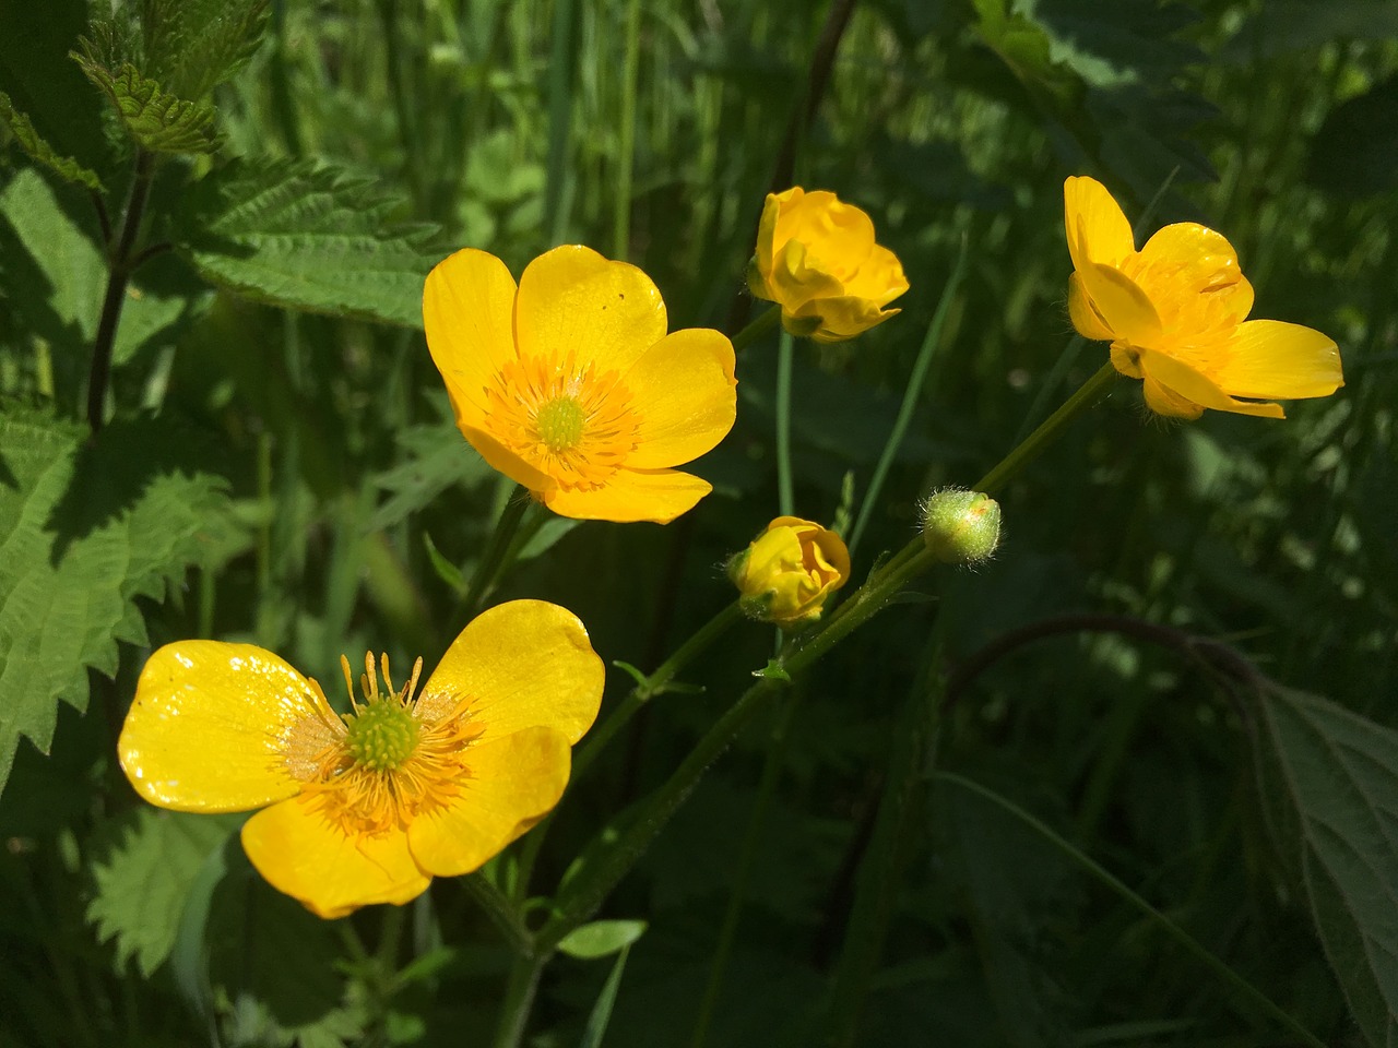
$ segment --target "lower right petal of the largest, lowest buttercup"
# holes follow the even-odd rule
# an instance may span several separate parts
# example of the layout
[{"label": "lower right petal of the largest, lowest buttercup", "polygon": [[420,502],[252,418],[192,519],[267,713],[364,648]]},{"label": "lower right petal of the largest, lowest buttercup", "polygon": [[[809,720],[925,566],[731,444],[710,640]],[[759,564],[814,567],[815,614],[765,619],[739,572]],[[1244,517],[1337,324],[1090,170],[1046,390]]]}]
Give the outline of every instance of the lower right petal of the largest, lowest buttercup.
[{"label": "lower right petal of the largest, lowest buttercup", "polygon": [[478,869],[552,810],[568,785],[570,762],[568,739],[552,728],[526,728],[473,745],[461,792],[408,827],[412,857],[443,878]]}]

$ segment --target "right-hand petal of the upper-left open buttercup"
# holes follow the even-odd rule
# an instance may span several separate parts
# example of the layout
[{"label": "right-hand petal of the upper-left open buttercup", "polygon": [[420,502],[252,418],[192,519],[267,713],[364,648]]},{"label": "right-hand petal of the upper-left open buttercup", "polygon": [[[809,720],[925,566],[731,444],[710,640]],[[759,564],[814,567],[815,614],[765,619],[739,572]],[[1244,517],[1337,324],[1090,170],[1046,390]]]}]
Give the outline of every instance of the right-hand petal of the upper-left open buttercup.
[{"label": "right-hand petal of the upper-left open buttercup", "polygon": [[698,458],[723,440],[737,416],[733,342],[710,328],[665,335],[626,372],[640,411],[626,465],[658,470]]}]

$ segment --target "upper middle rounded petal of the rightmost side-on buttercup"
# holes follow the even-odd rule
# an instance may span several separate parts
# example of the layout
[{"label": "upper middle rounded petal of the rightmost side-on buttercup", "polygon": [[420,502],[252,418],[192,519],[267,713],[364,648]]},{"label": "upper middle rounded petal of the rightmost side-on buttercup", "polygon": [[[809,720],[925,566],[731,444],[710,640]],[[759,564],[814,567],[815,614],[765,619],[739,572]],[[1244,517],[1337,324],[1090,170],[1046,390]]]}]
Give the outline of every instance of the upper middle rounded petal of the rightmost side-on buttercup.
[{"label": "upper middle rounded petal of the rightmost side-on buttercup", "polygon": [[1187,328],[1232,327],[1253,309],[1253,285],[1233,245],[1197,222],[1156,231],[1128,271],[1162,314]]}]

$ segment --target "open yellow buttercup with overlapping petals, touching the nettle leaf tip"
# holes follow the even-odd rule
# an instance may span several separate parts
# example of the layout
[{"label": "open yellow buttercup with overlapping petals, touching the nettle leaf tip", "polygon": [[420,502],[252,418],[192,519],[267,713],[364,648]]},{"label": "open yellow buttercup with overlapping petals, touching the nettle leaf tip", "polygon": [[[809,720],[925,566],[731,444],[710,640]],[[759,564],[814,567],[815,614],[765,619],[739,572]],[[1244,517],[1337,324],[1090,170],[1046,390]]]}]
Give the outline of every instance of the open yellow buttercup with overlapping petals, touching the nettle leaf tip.
[{"label": "open yellow buttercup with overlapping petals, touching the nettle leaf tip", "polygon": [[665,334],[635,265],[555,247],[516,288],[505,263],[466,249],[428,275],[422,321],[457,428],[555,513],[668,523],[712,490],[671,467],[733,429],[733,344]]}]

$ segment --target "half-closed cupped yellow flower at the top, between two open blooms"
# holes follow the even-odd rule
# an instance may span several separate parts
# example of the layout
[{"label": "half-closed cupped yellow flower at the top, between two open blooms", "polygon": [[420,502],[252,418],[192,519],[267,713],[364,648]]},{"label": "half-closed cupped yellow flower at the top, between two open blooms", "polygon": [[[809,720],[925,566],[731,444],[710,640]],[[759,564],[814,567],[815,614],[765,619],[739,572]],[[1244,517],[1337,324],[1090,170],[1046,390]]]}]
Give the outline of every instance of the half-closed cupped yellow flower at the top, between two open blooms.
[{"label": "half-closed cupped yellow flower at the top, between two open blooms", "polygon": [[769,193],[748,286],[781,306],[781,324],[816,342],[843,342],[882,324],[907,291],[903,265],[874,243],[874,222],[825,190]]}]

